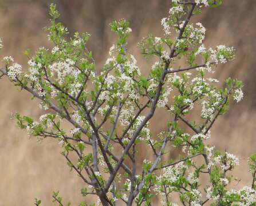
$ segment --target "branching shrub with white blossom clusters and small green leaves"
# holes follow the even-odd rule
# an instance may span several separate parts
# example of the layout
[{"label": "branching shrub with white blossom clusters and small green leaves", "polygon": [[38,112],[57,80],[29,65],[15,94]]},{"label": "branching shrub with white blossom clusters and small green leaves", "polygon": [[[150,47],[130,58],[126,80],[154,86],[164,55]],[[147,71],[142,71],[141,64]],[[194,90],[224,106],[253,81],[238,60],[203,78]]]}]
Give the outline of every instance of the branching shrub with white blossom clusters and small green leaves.
[{"label": "branching shrub with white blossom clusters and small green leaves", "polygon": [[[52,19],[46,27],[53,49],[41,47],[34,56],[26,51],[27,72],[12,57],[3,58],[1,77],[39,99],[46,112],[38,121],[15,113],[19,128],[40,141],[56,138],[68,167],[85,183],[81,195],[99,198],[91,205],[152,205],[157,198],[169,206],[256,204],[256,155],[249,158],[251,187],[229,189],[235,180],[230,171],[239,160],[207,144],[216,118],[226,113],[232,99],[239,102],[243,97],[241,81],[227,78],[225,88],[219,88],[218,80],[210,78],[218,64],[234,59],[234,48],[206,48],[206,29],[190,23],[203,7],[220,4],[221,0],[172,0],[168,17],[161,21],[163,37],[149,34],[139,43],[145,57],[157,57],[148,76],[141,74],[127,51],[132,31],[127,21],[111,24],[119,39],[103,68],[96,69],[86,47],[90,35],[66,38],[68,29],[57,22],[55,5],[50,6]],[[187,66],[175,66],[179,59]],[[189,120],[194,109],[200,109],[200,120]],[[157,110],[166,110],[170,121],[153,137],[149,120]],[[72,129],[67,131],[62,121]],[[184,125],[190,133],[184,132]],[[137,162],[138,145],[152,151],[153,161],[144,157]],[[170,146],[182,148],[180,160],[168,159]],[[208,176],[205,184],[202,175]],[[174,193],[179,201],[172,198]],[[53,200],[64,205],[58,192]],[[35,205],[40,204],[36,199]]]}]

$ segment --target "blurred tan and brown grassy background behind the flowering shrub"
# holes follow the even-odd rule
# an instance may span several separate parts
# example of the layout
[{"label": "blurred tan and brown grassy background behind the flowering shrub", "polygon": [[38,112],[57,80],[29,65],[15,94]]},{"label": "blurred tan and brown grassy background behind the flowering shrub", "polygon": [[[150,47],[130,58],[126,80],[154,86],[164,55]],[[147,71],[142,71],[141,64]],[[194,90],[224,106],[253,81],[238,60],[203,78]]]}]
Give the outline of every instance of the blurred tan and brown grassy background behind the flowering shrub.
[{"label": "blurred tan and brown grassy background behind the flowering shrub", "polygon": [[[88,47],[93,51],[98,69],[108,58],[107,51],[116,39],[109,23],[125,18],[133,30],[129,52],[135,54],[140,69],[147,70],[148,64],[141,57],[137,42],[149,32],[162,35],[160,20],[170,8],[170,0],[0,0],[0,38],[4,44],[1,58],[13,56],[25,67],[27,60],[22,53],[27,48],[34,51],[40,46],[52,47],[42,29],[49,25],[51,2],[57,3],[60,20],[69,28],[70,35],[74,31],[92,34]],[[251,184],[247,157],[256,152],[255,19],[255,0],[225,0],[222,6],[204,9],[193,20],[206,27],[206,46],[225,44],[237,50],[235,60],[218,67],[214,76],[222,81],[227,77],[243,80],[245,98],[239,104],[232,103],[229,112],[218,119],[211,129],[210,143],[239,157],[241,163],[234,173],[242,179],[236,185],[238,188]],[[0,206],[33,205],[34,197],[40,197],[43,205],[52,205],[52,191],[60,191],[65,202],[78,204],[82,200],[82,182],[69,172],[57,142],[30,139],[10,120],[10,113],[14,112],[39,117],[44,111],[38,108],[38,102],[28,101],[30,96],[18,92],[6,78],[0,81],[0,93]],[[154,133],[164,128],[164,118],[153,120]]]}]

